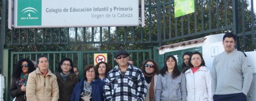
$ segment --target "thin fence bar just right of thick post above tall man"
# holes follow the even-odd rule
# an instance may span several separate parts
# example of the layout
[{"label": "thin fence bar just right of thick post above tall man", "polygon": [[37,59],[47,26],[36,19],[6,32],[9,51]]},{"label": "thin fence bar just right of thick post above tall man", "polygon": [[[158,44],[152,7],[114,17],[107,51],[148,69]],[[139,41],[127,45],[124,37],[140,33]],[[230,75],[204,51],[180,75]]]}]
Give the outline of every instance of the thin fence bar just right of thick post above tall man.
[{"label": "thin fence bar just right of thick post above tall man", "polygon": [[244,0],[242,2],[242,44],[245,45],[245,5],[244,5]]}]

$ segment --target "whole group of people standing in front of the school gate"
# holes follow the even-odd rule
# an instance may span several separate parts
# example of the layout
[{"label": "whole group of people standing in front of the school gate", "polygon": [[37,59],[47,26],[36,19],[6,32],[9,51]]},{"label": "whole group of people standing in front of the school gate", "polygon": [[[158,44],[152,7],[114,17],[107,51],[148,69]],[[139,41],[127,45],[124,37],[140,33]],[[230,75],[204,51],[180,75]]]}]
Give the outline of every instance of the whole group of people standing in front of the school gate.
[{"label": "whole group of people standing in front of the school gate", "polygon": [[10,94],[15,101],[246,101],[252,82],[247,57],[234,49],[235,35],[223,37],[225,51],[213,60],[212,71],[202,54],[186,52],[179,71],[177,59],[167,56],[159,71],[154,60],[141,69],[133,66],[127,51],[115,53],[113,69],[105,62],[87,65],[79,80],[70,58],[63,58],[51,73],[48,58],[18,61]]}]

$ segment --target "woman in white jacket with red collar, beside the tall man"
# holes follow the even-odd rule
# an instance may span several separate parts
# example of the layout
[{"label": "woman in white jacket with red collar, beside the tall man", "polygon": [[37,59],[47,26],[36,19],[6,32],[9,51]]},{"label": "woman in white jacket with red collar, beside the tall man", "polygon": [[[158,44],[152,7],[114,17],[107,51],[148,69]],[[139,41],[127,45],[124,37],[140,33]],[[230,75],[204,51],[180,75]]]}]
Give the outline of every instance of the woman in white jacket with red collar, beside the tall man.
[{"label": "woman in white jacket with red collar, beside the tall man", "polygon": [[193,52],[188,61],[191,67],[185,72],[187,101],[213,101],[212,77],[206,68],[202,54]]}]

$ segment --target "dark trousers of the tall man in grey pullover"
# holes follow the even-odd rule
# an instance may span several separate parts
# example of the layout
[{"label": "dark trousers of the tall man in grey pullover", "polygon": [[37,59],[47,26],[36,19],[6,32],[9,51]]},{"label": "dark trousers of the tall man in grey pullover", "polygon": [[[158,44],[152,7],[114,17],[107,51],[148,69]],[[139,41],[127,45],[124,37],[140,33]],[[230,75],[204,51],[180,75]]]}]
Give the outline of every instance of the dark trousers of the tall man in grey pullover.
[{"label": "dark trousers of the tall man in grey pullover", "polygon": [[236,93],[236,94],[214,94],[214,101],[247,101],[245,94]]}]

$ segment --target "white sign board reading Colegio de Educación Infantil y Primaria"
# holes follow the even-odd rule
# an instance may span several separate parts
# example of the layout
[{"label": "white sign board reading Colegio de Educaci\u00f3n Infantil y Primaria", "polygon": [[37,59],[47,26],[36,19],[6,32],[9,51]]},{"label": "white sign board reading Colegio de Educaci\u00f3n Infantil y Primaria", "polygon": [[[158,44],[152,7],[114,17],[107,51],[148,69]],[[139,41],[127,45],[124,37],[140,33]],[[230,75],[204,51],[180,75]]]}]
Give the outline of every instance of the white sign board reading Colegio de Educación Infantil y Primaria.
[{"label": "white sign board reading Colegio de Educaci\u00f3n Infantil y Primaria", "polygon": [[14,28],[139,26],[138,0],[14,0]]}]

